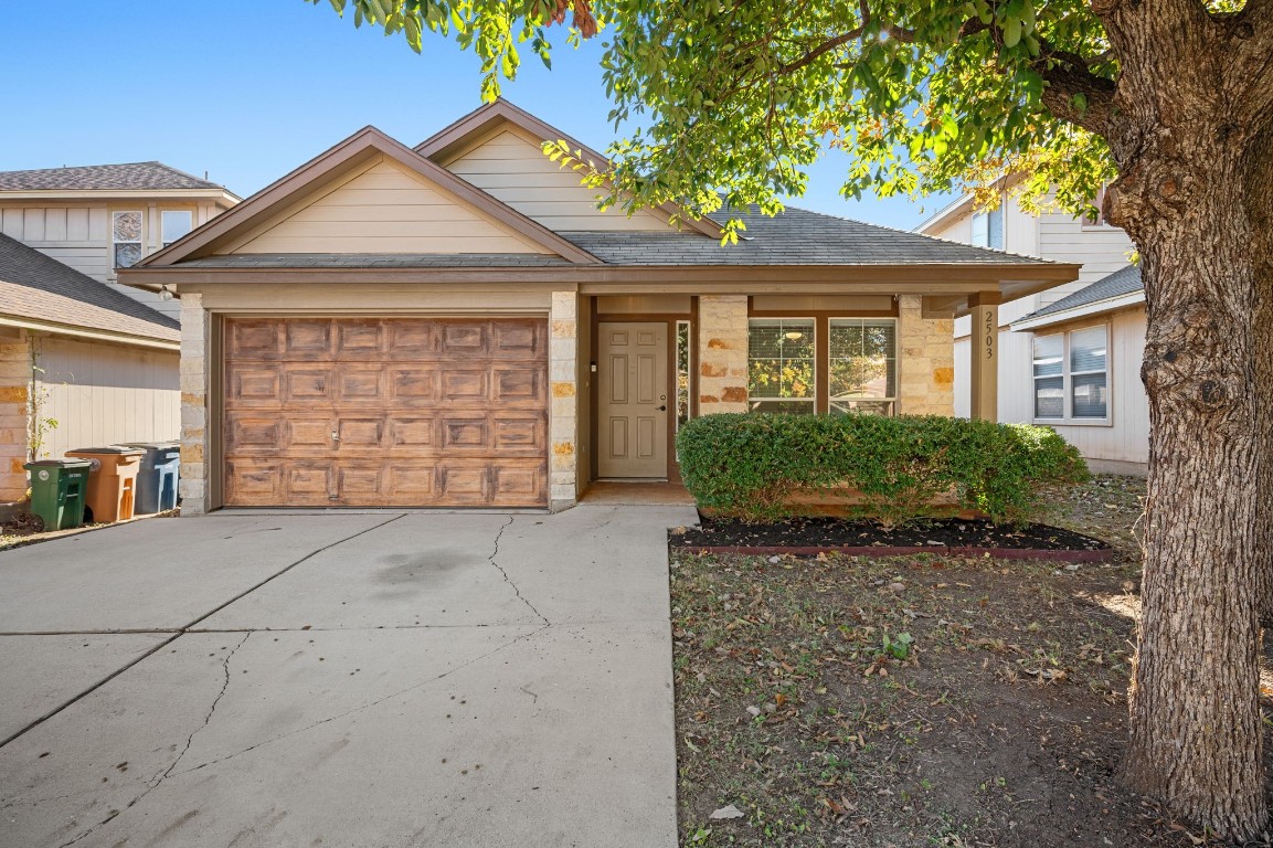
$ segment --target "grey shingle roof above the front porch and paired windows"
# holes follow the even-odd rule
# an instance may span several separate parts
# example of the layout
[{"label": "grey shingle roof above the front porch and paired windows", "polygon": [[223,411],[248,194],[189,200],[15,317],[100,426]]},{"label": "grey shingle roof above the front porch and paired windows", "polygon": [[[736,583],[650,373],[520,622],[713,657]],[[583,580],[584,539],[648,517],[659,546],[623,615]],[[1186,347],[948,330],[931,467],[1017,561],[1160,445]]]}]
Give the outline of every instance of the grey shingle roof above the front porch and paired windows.
[{"label": "grey shingle roof above the front porch and paired windows", "polygon": [[699,233],[563,232],[607,265],[1049,265],[1046,260],[973,247],[878,224],[788,206],[770,218],[755,206],[724,209],[718,220],[746,224],[737,244]]}]

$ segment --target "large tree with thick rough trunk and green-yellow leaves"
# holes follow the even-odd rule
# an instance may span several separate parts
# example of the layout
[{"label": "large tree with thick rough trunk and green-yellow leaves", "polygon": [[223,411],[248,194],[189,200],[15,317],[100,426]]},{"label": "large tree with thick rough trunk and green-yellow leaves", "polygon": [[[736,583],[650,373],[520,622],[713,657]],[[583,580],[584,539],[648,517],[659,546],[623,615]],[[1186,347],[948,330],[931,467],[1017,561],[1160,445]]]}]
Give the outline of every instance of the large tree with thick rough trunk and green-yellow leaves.
[{"label": "large tree with thick rough trunk and green-yellow leaves", "polygon": [[554,24],[600,29],[611,118],[638,127],[611,149],[616,202],[777,211],[829,146],[849,196],[989,199],[1013,174],[1027,205],[1077,211],[1110,183],[1141,255],[1152,428],[1124,775],[1218,834],[1265,830],[1273,0],[330,1],[418,51],[429,31],[472,47],[488,98],[518,45],[549,61]]}]

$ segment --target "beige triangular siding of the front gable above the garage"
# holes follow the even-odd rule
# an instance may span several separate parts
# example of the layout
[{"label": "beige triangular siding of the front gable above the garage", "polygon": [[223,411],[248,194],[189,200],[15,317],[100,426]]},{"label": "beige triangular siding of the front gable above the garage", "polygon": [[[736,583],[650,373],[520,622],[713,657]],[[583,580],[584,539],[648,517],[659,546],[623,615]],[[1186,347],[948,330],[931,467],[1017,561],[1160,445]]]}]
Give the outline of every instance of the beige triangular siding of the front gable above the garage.
[{"label": "beige triangular siding of the front gable above the garage", "polygon": [[378,160],[253,233],[234,253],[546,253],[546,248]]}]

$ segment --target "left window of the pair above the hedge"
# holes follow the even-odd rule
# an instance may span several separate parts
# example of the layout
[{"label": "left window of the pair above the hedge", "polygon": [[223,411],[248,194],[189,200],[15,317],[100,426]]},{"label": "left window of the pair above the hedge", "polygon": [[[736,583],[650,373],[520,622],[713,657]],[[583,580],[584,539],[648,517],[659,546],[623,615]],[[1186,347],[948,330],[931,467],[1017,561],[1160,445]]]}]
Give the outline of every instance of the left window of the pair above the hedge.
[{"label": "left window of the pair above the hedge", "polygon": [[747,393],[754,413],[815,411],[812,318],[752,318],[747,344]]}]

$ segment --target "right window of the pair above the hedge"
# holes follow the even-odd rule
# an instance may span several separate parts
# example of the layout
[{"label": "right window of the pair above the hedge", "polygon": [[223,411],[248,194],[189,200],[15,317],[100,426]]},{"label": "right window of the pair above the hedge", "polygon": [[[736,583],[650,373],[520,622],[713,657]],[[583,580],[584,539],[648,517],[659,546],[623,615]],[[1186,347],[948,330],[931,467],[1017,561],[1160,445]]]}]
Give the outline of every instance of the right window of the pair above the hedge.
[{"label": "right window of the pair above the hedge", "polygon": [[831,318],[827,348],[830,411],[891,415],[897,400],[896,322]]}]

